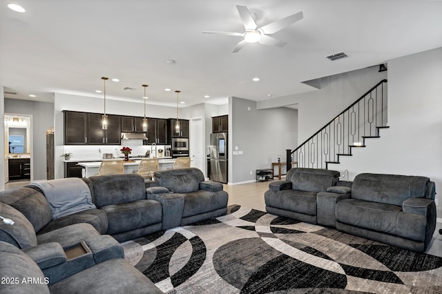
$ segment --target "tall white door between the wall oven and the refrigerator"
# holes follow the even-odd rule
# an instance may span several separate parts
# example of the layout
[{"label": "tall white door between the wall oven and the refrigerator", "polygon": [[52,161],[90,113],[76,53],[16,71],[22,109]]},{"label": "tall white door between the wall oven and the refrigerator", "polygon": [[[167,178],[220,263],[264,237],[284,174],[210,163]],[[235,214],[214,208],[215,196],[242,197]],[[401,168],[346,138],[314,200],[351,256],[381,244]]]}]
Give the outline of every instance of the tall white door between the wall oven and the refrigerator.
[{"label": "tall white door between the wall oven and the refrigerator", "polygon": [[202,122],[202,117],[190,119],[189,156],[191,157],[191,166],[202,170],[204,177],[207,177],[204,168],[204,126]]}]

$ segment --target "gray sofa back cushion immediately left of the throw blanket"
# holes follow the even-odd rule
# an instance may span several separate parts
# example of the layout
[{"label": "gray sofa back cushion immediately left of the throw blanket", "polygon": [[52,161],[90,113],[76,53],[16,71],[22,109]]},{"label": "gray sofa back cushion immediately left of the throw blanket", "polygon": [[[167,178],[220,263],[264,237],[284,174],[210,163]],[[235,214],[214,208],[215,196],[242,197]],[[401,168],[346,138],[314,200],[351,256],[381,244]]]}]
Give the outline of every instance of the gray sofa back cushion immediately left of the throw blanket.
[{"label": "gray sofa back cushion immediately left of the throw blanket", "polygon": [[3,191],[0,193],[0,202],[19,210],[34,226],[35,232],[40,231],[52,220],[48,200],[35,186]]}]

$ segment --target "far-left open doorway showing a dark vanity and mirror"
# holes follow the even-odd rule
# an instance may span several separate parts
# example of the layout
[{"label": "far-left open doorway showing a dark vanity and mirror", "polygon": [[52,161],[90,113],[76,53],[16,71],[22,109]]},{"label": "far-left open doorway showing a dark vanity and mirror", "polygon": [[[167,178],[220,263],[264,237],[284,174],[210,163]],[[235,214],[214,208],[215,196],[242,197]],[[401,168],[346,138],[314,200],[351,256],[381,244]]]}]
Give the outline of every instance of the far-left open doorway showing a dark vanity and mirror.
[{"label": "far-left open doorway showing a dark vanity and mirror", "polygon": [[32,115],[4,115],[5,183],[29,182],[32,172]]}]

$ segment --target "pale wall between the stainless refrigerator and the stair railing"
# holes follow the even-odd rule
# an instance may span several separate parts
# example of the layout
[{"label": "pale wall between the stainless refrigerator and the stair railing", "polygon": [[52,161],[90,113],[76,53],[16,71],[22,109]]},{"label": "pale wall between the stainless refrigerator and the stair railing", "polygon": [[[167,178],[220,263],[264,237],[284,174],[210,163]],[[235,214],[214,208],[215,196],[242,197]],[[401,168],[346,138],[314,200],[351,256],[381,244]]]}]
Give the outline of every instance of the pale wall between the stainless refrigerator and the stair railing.
[{"label": "pale wall between the stainless refrigerator and the stair railing", "polygon": [[[229,98],[229,107],[229,183],[254,182],[256,169],[271,168],[278,155],[285,161],[285,149],[296,146],[298,111],[258,110],[256,101],[237,97]],[[242,154],[233,155],[233,151]]]}]

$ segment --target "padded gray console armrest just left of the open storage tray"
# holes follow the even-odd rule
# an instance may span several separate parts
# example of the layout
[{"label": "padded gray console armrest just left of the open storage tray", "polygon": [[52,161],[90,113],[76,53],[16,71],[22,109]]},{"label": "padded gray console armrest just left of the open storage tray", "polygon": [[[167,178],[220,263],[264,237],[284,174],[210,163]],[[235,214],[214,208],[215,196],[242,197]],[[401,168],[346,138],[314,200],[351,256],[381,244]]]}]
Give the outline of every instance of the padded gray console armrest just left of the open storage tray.
[{"label": "padded gray console armrest just left of the open storage tray", "polygon": [[59,243],[50,242],[23,249],[42,270],[66,262],[66,254]]}]

